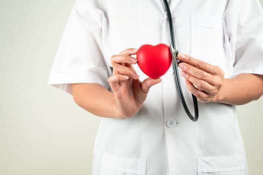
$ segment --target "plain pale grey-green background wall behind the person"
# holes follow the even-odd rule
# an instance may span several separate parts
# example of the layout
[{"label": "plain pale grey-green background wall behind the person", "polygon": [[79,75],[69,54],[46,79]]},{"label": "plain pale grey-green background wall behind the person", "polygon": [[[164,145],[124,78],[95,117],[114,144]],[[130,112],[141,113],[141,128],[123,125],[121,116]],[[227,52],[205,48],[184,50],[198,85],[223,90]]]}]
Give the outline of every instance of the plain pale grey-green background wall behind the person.
[{"label": "plain pale grey-green background wall behind the person", "polygon": [[[47,84],[74,2],[0,0],[1,175],[91,173],[99,117]],[[262,106],[237,107],[250,175],[263,174]]]}]

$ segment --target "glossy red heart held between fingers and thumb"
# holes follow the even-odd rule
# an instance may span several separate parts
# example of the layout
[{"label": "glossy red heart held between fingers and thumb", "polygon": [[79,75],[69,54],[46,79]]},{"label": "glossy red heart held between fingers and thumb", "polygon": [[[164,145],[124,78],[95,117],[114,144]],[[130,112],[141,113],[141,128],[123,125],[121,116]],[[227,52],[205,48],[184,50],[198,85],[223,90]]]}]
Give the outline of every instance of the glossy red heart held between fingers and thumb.
[{"label": "glossy red heart held between fingers and thumb", "polygon": [[169,69],[172,55],[168,45],[144,44],[137,51],[138,65],[151,78],[159,78]]}]

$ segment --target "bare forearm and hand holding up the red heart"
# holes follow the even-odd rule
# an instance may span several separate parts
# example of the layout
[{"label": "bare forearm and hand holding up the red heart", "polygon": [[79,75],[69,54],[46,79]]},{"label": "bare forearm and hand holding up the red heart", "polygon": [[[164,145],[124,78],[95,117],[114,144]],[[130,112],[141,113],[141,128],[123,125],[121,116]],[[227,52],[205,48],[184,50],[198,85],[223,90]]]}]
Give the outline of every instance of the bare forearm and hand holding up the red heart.
[{"label": "bare forearm and hand holding up the red heart", "polygon": [[73,98],[87,111],[103,117],[127,118],[134,116],[141,108],[152,85],[160,78],[139,80],[132,64],[137,59],[131,55],[137,49],[129,48],[111,57],[113,75],[108,78],[113,92],[97,83],[72,84]]}]

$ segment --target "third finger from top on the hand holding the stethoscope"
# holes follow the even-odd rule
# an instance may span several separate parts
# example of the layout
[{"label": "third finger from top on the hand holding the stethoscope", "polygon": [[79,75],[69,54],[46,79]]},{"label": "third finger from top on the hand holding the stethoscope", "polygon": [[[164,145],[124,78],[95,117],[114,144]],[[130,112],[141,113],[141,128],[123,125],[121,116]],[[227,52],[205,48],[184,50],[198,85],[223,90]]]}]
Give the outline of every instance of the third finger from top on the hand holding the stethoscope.
[{"label": "third finger from top on the hand holding the stethoscope", "polygon": [[202,90],[202,91],[205,91],[206,93],[209,93],[211,91],[211,89],[213,88],[213,86],[211,84],[209,84],[208,82],[206,82],[202,79],[198,79],[195,76],[192,76],[191,74],[189,74],[185,71],[182,71],[181,74],[185,79],[190,81],[192,84],[195,84],[199,90]]}]

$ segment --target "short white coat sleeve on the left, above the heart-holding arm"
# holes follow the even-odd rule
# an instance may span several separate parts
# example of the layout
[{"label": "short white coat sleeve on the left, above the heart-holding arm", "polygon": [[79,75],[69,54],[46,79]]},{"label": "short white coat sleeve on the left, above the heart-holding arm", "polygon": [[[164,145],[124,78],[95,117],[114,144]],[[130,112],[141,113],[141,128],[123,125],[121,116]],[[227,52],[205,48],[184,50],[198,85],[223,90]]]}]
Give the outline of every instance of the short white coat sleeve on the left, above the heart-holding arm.
[{"label": "short white coat sleeve on the left, above the heart-holding arm", "polygon": [[51,69],[49,84],[69,93],[71,83],[100,83],[109,89],[101,41],[105,17],[92,3],[76,1]]}]

